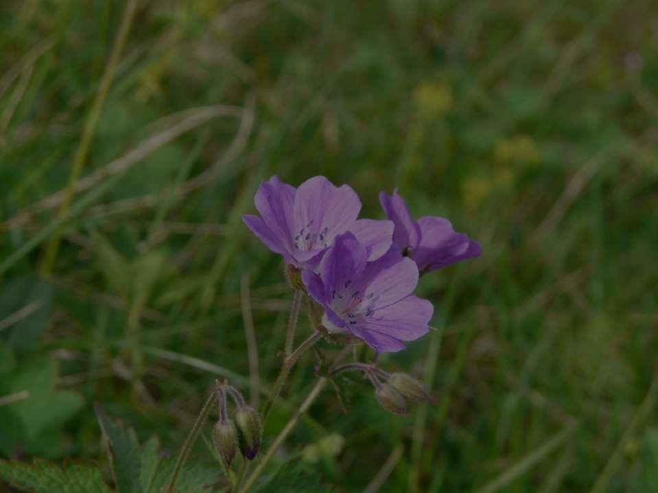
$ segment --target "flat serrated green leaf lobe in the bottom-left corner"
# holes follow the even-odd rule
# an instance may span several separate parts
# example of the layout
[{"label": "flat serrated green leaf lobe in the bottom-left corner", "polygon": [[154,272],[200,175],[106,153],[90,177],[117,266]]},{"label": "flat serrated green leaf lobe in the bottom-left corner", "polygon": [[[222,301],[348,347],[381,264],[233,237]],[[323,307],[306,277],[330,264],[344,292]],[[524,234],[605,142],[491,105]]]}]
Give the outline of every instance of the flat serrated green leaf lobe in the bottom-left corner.
[{"label": "flat serrated green leaf lobe in the bottom-left corner", "polygon": [[71,463],[60,468],[49,461],[34,465],[0,460],[0,478],[33,493],[111,493],[96,466]]}]

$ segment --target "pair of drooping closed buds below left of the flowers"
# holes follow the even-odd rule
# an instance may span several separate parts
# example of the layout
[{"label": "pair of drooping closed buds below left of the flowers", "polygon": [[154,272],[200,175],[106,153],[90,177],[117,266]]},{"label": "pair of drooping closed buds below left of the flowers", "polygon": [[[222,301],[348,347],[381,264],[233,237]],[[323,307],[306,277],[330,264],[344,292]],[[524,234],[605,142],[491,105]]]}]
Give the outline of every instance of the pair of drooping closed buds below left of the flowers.
[{"label": "pair of drooping closed buds below left of the flowers", "polygon": [[[261,417],[251,406],[246,405],[242,394],[230,385],[220,385],[218,387],[220,418],[215,424],[213,437],[215,447],[217,447],[222,461],[226,467],[231,466],[237,450],[240,450],[243,457],[252,460],[256,457],[261,440],[263,437],[263,427]],[[235,416],[233,419],[228,417],[226,409],[226,395],[231,396],[235,402]]]}]

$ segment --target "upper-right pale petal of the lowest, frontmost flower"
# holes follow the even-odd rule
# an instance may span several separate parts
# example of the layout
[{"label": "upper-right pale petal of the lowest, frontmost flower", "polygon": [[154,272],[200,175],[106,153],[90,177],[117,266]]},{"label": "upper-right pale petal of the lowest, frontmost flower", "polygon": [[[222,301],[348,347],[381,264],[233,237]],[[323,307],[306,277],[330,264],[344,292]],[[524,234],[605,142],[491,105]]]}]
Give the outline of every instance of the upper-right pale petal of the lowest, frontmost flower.
[{"label": "upper-right pale petal of the lowest, frontmost flower", "polygon": [[384,308],[409,296],[418,285],[418,267],[411,258],[401,258],[392,267],[381,270],[365,289],[373,294],[375,308]]}]

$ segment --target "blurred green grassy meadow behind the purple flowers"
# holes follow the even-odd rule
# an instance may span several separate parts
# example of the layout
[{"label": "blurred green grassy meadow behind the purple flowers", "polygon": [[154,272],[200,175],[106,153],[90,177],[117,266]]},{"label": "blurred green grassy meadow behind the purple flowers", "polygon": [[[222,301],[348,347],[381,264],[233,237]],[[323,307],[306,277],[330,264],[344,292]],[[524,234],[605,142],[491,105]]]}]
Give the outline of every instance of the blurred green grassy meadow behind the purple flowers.
[{"label": "blurred green grassy meadow behind the purple flowers", "polygon": [[[483,254],[423,278],[438,330],[381,359],[438,404],[392,416],[355,378],[274,466],[337,492],[387,459],[382,492],[658,491],[657,3],[141,0],[45,275],[125,6],[0,3],[0,398],[30,391],[0,455],[104,464],[93,402],[175,453],[213,371],[248,378],[245,285],[271,384],[291,296],[239,215],[272,174],[323,174],[368,217],[399,187]],[[309,354],[266,443],[314,378]]]}]

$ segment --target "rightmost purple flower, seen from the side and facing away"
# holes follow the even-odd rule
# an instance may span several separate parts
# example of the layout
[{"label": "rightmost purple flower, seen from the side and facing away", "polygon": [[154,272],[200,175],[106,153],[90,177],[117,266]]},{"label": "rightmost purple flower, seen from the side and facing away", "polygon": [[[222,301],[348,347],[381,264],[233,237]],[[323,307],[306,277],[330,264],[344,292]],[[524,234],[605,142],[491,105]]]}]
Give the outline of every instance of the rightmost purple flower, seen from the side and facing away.
[{"label": "rightmost purple flower, seen from the side and facing away", "polygon": [[393,245],[401,254],[412,258],[421,273],[482,253],[480,243],[455,232],[444,217],[425,216],[414,221],[397,189],[390,197],[380,192],[379,203],[388,219],[395,223]]}]

